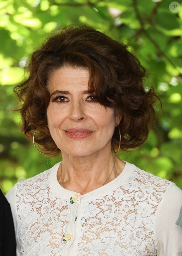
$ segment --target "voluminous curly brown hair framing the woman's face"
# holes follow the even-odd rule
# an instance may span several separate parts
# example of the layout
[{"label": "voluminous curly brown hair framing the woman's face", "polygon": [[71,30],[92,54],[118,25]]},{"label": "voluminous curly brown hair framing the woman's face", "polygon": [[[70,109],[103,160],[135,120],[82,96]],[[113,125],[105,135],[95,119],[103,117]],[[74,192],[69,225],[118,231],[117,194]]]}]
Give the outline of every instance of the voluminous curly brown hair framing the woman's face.
[{"label": "voluminous curly brown hair framing the woman's face", "polygon": [[[146,71],[127,47],[88,26],[67,26],[51,35],[31,55],[28,79],[14,88],[20,103],[21,129],[26,137],[32,140],[38,128],[34,141],[45,153],[60,153],[47,127],[48,82],[56,69],[71,65],[88,68],[88,91],[94,91],[100,104],[115,107],[120,112],[120,150],[142,145],[156,122],[153,104],[158,96],[153,87],[145,88]],[[113,146],[118,145],[116,127]]]}]

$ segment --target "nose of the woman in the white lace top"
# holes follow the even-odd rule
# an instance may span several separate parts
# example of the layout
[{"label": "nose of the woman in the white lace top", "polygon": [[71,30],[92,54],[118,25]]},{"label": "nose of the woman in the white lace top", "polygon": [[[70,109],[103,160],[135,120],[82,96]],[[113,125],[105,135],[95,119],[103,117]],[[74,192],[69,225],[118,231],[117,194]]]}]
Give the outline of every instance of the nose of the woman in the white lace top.
[{"label": "nose of the woman in the white lace top", "polygon": [[86,118],[85,108],[82,102],[75,102],[71,106],[70,118],[75,122],[79,122]]}]

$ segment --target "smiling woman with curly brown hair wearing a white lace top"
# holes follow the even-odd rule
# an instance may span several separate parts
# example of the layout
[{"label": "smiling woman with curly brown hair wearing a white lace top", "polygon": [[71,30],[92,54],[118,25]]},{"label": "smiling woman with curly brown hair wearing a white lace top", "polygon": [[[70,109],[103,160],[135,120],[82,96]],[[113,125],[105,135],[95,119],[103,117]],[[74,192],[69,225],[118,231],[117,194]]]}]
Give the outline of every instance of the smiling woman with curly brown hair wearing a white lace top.
[{"label": "smiling woman with curly brown hair wearing a white lace top", "polygon": [[115,155],[155,123],[157,96],[136,57],[99,31],[67,27],[29,71],[15,89],[22,131],[62,162],[7,195],[18,256],[179,255],[182,191]]}]

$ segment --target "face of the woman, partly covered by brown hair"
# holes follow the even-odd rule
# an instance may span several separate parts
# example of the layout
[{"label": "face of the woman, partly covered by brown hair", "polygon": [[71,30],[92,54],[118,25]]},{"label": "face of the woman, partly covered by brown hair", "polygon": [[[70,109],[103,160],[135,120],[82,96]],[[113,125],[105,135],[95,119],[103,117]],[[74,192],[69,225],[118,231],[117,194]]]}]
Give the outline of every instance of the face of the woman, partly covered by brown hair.
[{"label": "face of the woman, partly covered by brown hair", "polygon": [[49,79],[48,127],[62,154],[84,157],[111,148],[120,118],[114,108],[88,93],[88,80],[87,69],[71,66],[56,70]]}]

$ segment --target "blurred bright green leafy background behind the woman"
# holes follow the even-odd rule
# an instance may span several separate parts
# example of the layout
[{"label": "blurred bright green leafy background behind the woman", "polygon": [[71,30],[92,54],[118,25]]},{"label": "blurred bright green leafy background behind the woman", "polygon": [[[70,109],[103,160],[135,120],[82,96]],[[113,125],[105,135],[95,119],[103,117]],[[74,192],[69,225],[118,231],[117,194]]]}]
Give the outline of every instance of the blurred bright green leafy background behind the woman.
[{"label": "blurred bright green leafy background behind the woman", "polygon": [[[147,142],[121,159],[182,188],[182,8],[171,0],[5,0],[0,2],[0,188],[50,168],[20,133],[13,86],[23,79],[29,55],[63,25],[88,24],[129,49],[151,75],[163,110]],[[146,81],[147,82],[147,81]]]}]

